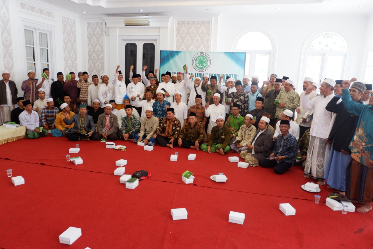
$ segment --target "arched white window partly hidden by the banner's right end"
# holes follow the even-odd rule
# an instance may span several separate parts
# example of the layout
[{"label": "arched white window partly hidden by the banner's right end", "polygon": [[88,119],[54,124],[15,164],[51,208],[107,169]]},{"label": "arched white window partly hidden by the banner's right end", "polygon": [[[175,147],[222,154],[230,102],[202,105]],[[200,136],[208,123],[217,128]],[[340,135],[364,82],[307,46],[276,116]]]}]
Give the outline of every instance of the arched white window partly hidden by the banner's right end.
[{"label": "arched white window partly hidden by the banner's right end", "polygon": [[[267,80],[272,65],[272,42],[264,33],[251,31],[236,44],[236,51],[246,52],[245,74]],[[241,79],[242,80],[242,79]]]}]

